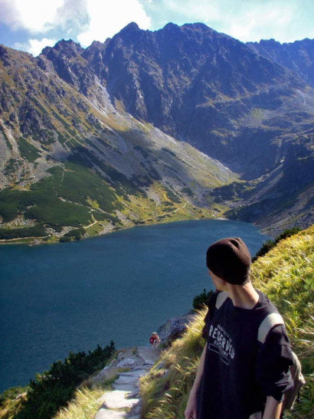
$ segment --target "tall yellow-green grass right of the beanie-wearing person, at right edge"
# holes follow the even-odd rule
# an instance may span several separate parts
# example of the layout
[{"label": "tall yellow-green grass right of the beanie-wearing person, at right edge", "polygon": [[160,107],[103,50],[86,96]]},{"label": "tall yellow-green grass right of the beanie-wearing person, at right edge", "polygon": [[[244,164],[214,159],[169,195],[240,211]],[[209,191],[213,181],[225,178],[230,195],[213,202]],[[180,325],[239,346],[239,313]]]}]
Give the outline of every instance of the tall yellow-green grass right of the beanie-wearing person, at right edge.
[{"label": "tall yellow-green grass right of the beanie-wearing person, at right edge", "polygon": [[314,418],[314,226],[282,240],[252,266],[254,286],[277,305],[306,378],[288,418]]}]

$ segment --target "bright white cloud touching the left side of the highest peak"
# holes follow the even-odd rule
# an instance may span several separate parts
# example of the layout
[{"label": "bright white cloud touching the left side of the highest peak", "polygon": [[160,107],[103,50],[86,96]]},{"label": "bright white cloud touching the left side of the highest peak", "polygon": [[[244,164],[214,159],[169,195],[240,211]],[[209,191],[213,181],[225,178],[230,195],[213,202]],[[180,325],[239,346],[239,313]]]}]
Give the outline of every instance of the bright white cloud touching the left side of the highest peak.
[{"label": "bright white cloud touching the left side of the highest peak", "polygon": [[141,29],[150,27],[150,18],[138,0],[87,0],[86,6],[89,23],[77,36],[83,47],[93,41],[104,42],[132,21]]}]

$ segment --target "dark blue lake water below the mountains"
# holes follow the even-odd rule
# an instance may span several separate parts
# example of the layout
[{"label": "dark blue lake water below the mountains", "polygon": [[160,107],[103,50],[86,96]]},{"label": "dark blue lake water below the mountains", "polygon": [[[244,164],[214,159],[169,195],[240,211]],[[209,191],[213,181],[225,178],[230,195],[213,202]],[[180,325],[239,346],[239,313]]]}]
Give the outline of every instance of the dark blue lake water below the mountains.
[{"label": "dark blue lake water below the mountains", "polygon": [[168,318],[211,289],[205,253],[240,236],[255,254],[268,239],[247,223],[183,221],[73,243],[0,247],[0,392],[25,385],[69,351],[148,343]]}]

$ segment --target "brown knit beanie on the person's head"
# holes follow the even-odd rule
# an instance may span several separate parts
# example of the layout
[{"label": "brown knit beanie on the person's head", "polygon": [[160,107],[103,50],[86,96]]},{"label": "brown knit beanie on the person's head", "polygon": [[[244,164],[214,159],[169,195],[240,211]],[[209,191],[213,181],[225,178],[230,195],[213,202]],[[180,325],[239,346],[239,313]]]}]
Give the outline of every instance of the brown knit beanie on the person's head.
[{"label": "brown knit beanie on the person's head", "polygon": [[206,265],[229,284],[243,285],[250,280],[251,256],[240,237],[226,237],[213,243],[206,253]]}]

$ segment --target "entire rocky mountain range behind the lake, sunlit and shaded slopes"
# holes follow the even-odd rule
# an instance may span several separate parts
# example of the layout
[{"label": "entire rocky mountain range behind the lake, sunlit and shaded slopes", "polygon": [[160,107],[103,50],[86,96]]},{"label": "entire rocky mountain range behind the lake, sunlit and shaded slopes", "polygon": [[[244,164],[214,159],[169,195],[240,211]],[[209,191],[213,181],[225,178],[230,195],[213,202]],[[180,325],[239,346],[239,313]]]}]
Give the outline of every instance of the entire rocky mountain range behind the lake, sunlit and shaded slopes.
[{"label": "entire rocky mountain range behind the lake, sunlit and shaded slopes", "polygon": [[314,40],[130,23],[86,49],[0,46],[2,239],[226,216],[314,221]]}]

